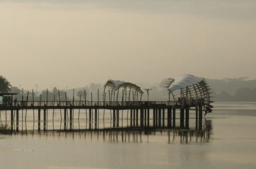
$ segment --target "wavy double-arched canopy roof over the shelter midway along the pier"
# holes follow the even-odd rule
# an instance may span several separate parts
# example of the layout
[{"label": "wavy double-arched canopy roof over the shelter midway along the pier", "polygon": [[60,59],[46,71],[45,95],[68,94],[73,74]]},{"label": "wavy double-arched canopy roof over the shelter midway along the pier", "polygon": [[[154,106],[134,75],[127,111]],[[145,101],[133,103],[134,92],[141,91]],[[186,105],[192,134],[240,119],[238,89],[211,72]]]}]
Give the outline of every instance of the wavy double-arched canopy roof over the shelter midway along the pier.
[{"label": "wavy double-arched canopy roof over the shelter midway along the pier", "polygon": [[108,82],[105,84],[105,87],[114,87],[115,90],[117,90],[120,87],[127,87],[127,88],[131,87],[131,89],[134,89],[135,91],[138,91],[140,94],[143,94],[143,91],[141,91],[138,85],[132,84],[130,82],[124,82],[121,80],[109,79]]}]

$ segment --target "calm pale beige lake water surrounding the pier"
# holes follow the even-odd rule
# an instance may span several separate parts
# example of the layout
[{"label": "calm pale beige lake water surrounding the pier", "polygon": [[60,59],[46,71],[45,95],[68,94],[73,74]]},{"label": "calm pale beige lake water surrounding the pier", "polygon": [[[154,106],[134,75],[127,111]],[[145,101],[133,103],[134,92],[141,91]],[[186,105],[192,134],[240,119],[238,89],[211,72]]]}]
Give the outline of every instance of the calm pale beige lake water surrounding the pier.
[{"label": "calm pale beige lake water surrounding the pier", "polygon": [[[86,128],[81,118],[76,128]],[[215,103],[203,123],[211,124],[209,139],[179,130],[0,134],[0,168],[256,168],[256,103]]]}]

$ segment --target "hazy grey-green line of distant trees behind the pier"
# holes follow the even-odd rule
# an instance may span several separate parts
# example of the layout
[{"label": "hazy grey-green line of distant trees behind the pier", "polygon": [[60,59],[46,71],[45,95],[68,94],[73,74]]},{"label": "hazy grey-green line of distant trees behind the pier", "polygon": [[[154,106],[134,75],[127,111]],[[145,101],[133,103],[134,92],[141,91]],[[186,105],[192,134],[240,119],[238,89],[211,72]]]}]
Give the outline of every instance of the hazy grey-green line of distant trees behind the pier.
[{"label": "hazy grey-green line of distant trees behind the pier", "polygon": [[[224,79],[206,79],[212,88],[212,95],[215,96],[214,101],[256,101],[256,80],[248,80],[248,78],[224,78]],[[151,88],[149,92],[149,100],[151,101],[167,101],[168,91],[163,87],[163,82],[160,84],[148,84],[148,83],[135,83],[141,87],[144,92],[142,100],[147,100],[147,92],[143,89]],[[10,85],[8,85],[10,87]],[[10,87],[10,92],[17,92],[15,95],[18,100],[22,99],[22,91],[18,87]],[[79,100],[80,96],[84,100],[84,90],[86,91],[86,100],[97,100],[99,89],[99,100],[103,98],[104,84],[88,84],[85,87],[79,87],[76,89],[60,90],[60,100],[65,101],[65,93],[67,94],[67,100],[74,99]],[[23,91],[23,98],[26,100],[29,92],[29,100],[32,100],[32,90]],[[92,93],[92,96],[91,96]],[[46,90],[40,91],[36,94],[34,91],[34,99],[40,100],[42,94],[42,100],[46,100]],[[48,91],[48,99],[59,100],[58,88],[54,87]],[[108,92],[106,92],[108,97]]]}]

